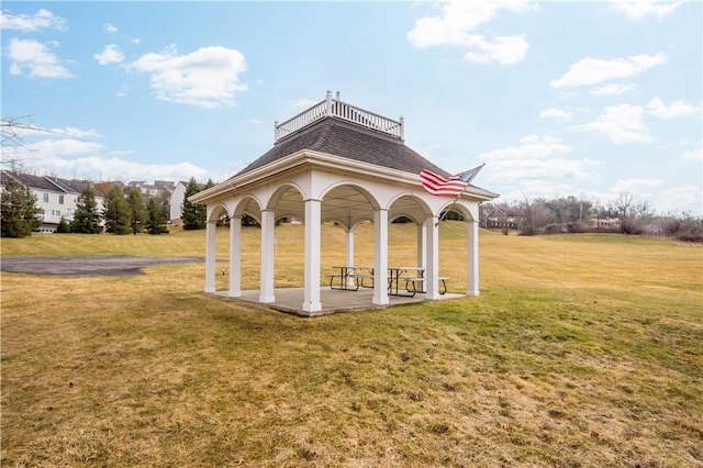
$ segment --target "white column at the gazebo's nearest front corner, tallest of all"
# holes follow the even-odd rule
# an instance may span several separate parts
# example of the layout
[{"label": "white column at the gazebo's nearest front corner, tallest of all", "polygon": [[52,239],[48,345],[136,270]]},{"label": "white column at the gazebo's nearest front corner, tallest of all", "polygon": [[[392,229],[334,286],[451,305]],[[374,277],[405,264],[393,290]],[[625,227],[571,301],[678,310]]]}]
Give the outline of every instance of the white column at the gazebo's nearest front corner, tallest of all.
[{"label": "white column at the gazebo's nearest front corner, tallest of all", "polygon": [[322,202],[305,200],[305,286],[303,311],[320,312],[320,231]]}]

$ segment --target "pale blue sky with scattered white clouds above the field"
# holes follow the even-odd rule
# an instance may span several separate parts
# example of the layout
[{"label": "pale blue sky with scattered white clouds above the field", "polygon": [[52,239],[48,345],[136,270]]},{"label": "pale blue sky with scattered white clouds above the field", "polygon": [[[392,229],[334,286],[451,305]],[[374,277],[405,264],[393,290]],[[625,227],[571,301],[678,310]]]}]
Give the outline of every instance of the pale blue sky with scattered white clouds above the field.
[{"label": "pale blue sky with scattered white clouds above the field", "polygon": [[[4,147],[40,174],[224,180],[339,91],[501,200],[703,212],[703,3],[2,3]],[[31,149],[31,151],[27,151]]]}]

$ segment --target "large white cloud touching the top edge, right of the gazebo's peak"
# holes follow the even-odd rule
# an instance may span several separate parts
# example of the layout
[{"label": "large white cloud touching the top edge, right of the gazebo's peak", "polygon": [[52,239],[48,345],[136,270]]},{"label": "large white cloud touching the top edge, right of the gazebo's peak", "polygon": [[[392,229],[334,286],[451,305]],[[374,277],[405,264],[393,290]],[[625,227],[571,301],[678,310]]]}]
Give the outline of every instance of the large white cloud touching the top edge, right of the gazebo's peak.
[{"label": "large white cloud touching the top edge, right of the gazebo's peak", "polygon": [[524,35],[487,38],[481,34],[471,34],[471,31],[493,20],[501,10],[522,13],[534,9],[524,0],[453,0],[443,3],[440,16],[419,19],[415,27],[408,33],[408,41],[419,48],[440,45],[467,47],[469,52],[465,58],[469,62],[515,64],[524,60],[529,47]]}]

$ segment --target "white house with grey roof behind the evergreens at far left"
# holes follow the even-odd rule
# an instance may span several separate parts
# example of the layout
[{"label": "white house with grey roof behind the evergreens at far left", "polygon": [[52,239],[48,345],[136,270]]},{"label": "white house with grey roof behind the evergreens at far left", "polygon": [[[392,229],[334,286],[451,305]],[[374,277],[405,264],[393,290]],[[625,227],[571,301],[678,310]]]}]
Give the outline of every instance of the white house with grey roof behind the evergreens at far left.
[{"label": "white house with grey roof behind the evergreens at far left", "polygon": [[[62,218],[68,222],[74,220],[78,197],[86,183],[78,180],[63,179],[55,176],[34,176],[12,170],[0,171],[0,183],[4,186],[8,178],[30,188],[36,197],[42,224],[38,232],[54,233]],[[98,212],[102,212],[103,193],[93,187]]]}]

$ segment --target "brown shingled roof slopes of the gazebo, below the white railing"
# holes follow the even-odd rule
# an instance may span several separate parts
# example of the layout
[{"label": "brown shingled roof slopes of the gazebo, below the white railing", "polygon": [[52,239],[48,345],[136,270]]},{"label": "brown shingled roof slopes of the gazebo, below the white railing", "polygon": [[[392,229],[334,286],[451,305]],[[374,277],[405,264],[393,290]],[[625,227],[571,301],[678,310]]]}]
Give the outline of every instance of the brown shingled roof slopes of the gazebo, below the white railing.
[{"label": "brown shingled roof slopes of the gazebo, below the white railing", "polygon": [[234,177],[275,163],[301,149],[326,153],[404,172],[420,174],[422,169],[429,169],[448,176],[445,170],[405,146],[402,140],[332,115],[324,116],[284,140],[279,140],[271,149]]}]

